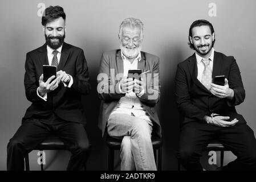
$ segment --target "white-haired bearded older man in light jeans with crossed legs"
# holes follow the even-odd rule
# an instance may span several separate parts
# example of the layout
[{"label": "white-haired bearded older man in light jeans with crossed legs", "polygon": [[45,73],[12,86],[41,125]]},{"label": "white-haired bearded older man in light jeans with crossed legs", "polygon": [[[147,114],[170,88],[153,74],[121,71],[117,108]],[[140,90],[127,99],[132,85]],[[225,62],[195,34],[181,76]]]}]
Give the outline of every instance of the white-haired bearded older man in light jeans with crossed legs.
[{"label": "white-haired bearded older man in light jeans with crossed legs", "polygon": [[[124,19],[119,28],[120,49],[101,57],[97,92],[101,101],[99,127],[121,142],[121,170],[156,170],[151,134],[161,136],[156,112],[159,102],[159,57],[141,51],[143,23]],[[140,69],[141,80],[129,77]]]}]

